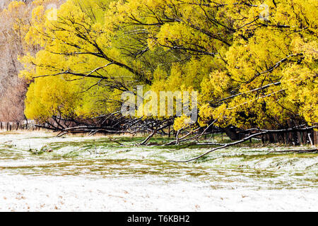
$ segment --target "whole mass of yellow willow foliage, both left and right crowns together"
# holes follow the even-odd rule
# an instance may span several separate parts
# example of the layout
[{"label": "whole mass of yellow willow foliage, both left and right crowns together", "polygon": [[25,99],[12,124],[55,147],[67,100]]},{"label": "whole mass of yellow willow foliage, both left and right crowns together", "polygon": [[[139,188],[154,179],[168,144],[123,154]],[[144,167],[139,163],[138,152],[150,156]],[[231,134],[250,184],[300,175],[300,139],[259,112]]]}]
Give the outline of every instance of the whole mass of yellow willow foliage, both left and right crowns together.
[{"label": "whole mass of yellow willow foliage, both left and right crowns together", "polygon": [[[317,124],[315,0],[68,0],[39,4],[21,57],[25,115],[114,112],[136,85],[199,92],[199,125],[282,129]],[[184,117],[183,117],[184,118]],[[181,129],[184,120],[175,120]]]}]

